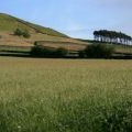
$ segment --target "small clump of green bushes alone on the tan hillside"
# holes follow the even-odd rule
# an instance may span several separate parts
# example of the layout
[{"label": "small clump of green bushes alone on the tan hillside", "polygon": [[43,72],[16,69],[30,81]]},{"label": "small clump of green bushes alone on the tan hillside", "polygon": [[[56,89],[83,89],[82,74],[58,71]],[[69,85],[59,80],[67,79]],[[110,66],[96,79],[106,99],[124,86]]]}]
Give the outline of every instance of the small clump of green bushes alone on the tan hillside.
[{"label": "small clump of green bushes alone on the tan hillside", "polygon": [[31,37],[30,32],[29,32],[28,30],[21,30],[21,29],[16,29],[16,30],[14,31],[14,35],[23,36],[23,37],[25,37],[25,38]]}]

